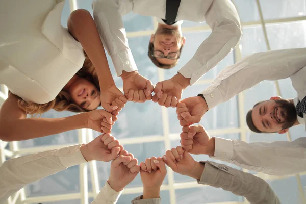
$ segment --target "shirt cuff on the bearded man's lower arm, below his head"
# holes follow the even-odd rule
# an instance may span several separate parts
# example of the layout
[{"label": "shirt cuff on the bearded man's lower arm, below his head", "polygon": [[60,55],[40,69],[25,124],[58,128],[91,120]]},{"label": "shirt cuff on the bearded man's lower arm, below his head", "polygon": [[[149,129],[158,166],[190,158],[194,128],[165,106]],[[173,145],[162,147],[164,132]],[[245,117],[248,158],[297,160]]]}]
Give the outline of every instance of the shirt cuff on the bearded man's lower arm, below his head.
[{"label": "shirt cuff on the bearded man's lower arm, below his head", "polygon": [[215,157],[233,159],[233,141],[229,139],[215,137]]}]

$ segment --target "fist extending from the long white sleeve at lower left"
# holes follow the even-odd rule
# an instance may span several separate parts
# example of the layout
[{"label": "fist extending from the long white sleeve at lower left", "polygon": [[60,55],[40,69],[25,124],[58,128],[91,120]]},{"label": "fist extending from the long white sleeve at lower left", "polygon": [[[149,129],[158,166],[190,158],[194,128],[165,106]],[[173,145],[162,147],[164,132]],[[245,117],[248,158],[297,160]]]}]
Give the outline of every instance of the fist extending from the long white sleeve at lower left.
[{"label": "fist extending from the long white sleeve at lower left", "polygon": [[104,134],[81,146],[80,150],[88,162],[91,160],[109,162],[118,157],[123,146],[111,134]]}]

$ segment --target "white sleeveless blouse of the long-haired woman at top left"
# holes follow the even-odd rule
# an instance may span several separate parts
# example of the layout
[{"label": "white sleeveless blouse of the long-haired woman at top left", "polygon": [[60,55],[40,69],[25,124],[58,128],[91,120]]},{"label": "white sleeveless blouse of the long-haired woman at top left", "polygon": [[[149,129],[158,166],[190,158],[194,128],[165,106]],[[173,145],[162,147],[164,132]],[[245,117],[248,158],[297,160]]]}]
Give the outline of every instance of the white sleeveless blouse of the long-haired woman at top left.
[{"label": "white sleeveless blouse of the long-haired woman at top left", "polygon": [[81,44],[61,25],[64,2],[2,1],[0,84],[34,103],[53,100],[85,56]]}]

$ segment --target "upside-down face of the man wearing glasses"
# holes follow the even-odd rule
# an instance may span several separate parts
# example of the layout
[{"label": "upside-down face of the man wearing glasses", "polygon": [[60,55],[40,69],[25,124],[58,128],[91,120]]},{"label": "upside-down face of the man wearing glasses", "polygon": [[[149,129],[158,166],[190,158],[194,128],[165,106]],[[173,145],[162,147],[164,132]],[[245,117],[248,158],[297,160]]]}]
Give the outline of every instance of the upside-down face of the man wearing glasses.
[{"label": "upside-down face of the man wearing glasses", "polygon": [[[151,36],[150,42],[154,45],[154,50],[158,50],[161,56],[180,56],[180,49],[185,44],[185,38],[182,37],[179,30],[163,28],[157,30],[155,35]],[[157,58],[159,63],[173,64],[177,59]]]}]

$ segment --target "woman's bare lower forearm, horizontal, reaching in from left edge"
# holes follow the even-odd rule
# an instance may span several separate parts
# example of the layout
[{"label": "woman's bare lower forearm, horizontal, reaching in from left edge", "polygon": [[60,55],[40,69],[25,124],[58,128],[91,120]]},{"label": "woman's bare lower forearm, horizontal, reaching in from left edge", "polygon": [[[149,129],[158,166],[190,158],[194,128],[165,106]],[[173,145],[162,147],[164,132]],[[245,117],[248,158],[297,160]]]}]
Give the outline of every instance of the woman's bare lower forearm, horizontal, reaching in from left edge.
[{"label": "woman's bare lower forearm, horizontal, reaching in from left edge", "polygon": [[28,140],[86,127],[86,113],[63,118],[3,120],[1,135],[7,141]]}]

